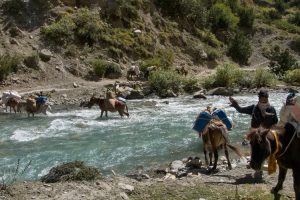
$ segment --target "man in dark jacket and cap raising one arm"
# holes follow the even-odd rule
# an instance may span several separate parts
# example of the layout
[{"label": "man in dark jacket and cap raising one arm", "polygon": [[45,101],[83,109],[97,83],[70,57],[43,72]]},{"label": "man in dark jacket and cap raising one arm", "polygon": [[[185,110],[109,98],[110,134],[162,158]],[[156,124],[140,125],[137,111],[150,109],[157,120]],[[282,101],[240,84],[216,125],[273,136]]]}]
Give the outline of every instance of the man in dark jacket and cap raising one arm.
[{"label": "man in dark jacket and cap raising one arm", "polygon": [[265,128],[269,129],[277,124],[278,118],[276,110],[269,103],[269,94],[266,90],[261,90],[258,93],[258,103],[246,107],[240,107],[237,101],[229,97],[231,106],[238,112],[252,115],[251,128]]}]

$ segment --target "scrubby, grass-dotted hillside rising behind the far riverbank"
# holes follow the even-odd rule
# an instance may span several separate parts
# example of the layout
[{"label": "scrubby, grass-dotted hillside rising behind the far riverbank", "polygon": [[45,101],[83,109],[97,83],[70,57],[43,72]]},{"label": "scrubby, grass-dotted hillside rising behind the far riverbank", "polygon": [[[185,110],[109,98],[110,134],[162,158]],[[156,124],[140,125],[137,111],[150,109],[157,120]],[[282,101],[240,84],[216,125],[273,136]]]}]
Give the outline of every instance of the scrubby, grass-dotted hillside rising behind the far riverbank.
[{"label": "scrubby, grass-dotted hillside rising behind the far riverbank", "polygon": [[[256,86],[268,86],[270,77],[297,85],[299,6],[296,0],[6,0],[1,5],[0,81],[17,73],[16,63],[26,64],[26,59],[31,62],[25,68],[39,70],[39,52],[48,49],[70,63],[65,67],[70,74],[88,80],[99,70],[102,77],[125,76],[134,62],[144,72],[152,65],[164,71],[185,66],[188,79],[218,86],[203,80],[201,72],[230,64],[269,70],[266,84]],[[99,62],[109,67],[95,67]]]}]

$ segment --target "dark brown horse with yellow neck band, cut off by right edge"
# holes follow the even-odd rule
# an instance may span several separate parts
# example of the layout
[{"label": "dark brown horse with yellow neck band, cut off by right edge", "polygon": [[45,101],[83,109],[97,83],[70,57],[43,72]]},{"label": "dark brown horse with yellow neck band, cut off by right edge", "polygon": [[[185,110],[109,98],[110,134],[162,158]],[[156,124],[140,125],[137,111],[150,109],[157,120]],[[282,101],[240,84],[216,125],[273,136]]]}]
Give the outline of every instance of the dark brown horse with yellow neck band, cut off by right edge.
[{"label": "dark brown horse with yellow neck band, cut off by right edge", "polygon": [[282,189],[287,169],[292,169],[296,200],[300,200],[300,138],[294,126],[287,123],[281,133],[270,130],[261,133],[252,131],[248,134],[248,139],[251,144],[250,167],[259,170],[267,157],[275,156],[279,175],[272,192],[277,194]]}]

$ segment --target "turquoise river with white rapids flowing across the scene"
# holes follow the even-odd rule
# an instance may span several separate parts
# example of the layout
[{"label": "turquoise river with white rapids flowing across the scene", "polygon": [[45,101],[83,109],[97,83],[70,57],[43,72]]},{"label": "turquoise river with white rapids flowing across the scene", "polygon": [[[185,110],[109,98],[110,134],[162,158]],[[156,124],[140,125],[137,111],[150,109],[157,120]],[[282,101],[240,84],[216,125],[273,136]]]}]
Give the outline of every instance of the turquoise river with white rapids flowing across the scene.
[{"label": "turquoise river with white rapids flowing across the scene", "polygon": [[[277,112],[285,97],[286,93],[270,94],[270,103]],[[241,106],[258,100],[257,95],[235,98]],[[188,156],[203,158],[202,141],[192,126],[207,105],[225,109],[234,123],[230,131],[231,143],[241,147],[250,126],[250,116],[229,107],[228,97],[130,100],[129,118],[121,118],[118,113],[100,118],[97,106],[53,110],[47,116],[34,118],[2,112],[0,176],[6,181],[12,179],[18,160],[18,174],[31,160],[18,179],[37,180],[52,167],[74,160],[95,166],[106,175],[111,170],[125,174],[138,166],[155,168]]]}]

